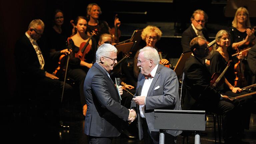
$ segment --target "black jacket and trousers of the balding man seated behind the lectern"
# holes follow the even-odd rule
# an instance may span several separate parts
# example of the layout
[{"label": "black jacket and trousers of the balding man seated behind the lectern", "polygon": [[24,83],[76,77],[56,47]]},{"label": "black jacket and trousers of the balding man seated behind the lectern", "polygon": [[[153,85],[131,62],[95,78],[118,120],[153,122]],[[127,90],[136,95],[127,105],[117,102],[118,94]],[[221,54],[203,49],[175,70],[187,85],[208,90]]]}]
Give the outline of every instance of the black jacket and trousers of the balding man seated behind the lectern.
[{"label": "black jacket and trousers of the balding man seated behind the lectern", "polygon": [[236,136],[235,106],[227,101],[220,100],[221,95],[210,86],[211,73],[203,60],[190,56],[184,67],[186,94],[183,110],[205,110],[222,115],[223,137],[225,141]]}]

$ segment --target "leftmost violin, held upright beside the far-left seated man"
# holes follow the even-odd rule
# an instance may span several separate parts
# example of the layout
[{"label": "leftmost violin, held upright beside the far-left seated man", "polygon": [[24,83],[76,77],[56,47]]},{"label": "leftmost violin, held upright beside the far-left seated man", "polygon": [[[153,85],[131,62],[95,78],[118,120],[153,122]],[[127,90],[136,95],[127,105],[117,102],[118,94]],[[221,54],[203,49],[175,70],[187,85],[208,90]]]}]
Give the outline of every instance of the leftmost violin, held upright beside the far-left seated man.
[{"label": "leftmost violin, held upright beside the far-left seated man", "polygon": [[[71,51],[71,44],[70,44],[70,37],[67,40],[67,45],[68,45],[68,50]],[[65,71],[66,71],[66,65],[67,65],[67,58],[66,58],[67,54],[62,54],[59,58],[59,62],[58,62],[58,67],[55,69],[55,71],[53,72],[53,75],[55,75],[58,78],[63,79]]]}]

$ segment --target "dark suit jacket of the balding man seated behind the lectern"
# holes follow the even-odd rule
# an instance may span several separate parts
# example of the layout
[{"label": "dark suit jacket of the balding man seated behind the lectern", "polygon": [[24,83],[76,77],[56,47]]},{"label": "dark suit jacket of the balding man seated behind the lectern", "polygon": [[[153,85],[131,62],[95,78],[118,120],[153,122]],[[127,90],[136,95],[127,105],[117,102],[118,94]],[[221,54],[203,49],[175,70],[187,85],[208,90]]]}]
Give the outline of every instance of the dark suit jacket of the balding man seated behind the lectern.
[{"label": "dark suit jacket of the balding man seated behind the lectern", "polygon": [[184,67],[186,96],[184,110],[193,110],[198,104],[218,104],[220,94],[210,87],[211,74],[201,60],[195,56],[187,59]]}]

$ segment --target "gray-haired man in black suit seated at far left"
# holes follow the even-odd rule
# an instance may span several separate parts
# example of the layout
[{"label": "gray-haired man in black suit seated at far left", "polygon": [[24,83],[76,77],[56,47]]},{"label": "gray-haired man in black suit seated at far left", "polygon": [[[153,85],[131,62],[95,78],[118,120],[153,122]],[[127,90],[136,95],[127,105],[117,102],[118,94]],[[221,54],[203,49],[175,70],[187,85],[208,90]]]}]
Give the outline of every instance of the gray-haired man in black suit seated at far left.
[{"label": "gray-haired man in black suit seated at far left", "polygon": [[[19,95],[17,101],[21,100],[19,103],[22,103],[22,100],[26,98],[36,101],[37,110],[40,109],[43,112],[50,110],[49,117],[51,118],[49,119],[57,124],[60,120],[58,116],[63,82],[47,70],[47,65],[49,65],[49,60],[52,57],[70,52],[68,49],[64,49],[48,55],[44,45],[38,41],[43,31],[44,22],[40,19],[32,20],[28,30],[16,42],[14,56],[17,83],[19,92],[25,92],[24,95]],[[65,91],[70,89],[72,89],[70,85],[65,86]],[[28,95],[28,93],[30,94]]]}]

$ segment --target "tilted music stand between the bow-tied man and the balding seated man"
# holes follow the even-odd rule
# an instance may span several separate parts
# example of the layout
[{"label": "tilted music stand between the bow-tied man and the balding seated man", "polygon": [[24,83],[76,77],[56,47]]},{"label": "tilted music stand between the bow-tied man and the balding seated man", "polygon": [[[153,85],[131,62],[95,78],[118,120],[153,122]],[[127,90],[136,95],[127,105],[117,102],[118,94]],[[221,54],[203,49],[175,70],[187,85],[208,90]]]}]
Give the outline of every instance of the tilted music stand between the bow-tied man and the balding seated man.
[{"label": "tilted music stand between the bow-tied man and the balding seated man", "polygon": [[186,51],[181,54],[176,66],[173,70],[173,71],[175,71],[177,77],[182,75],[186,60],[191,56],[191,54],[192,54],[191,51]]}]

